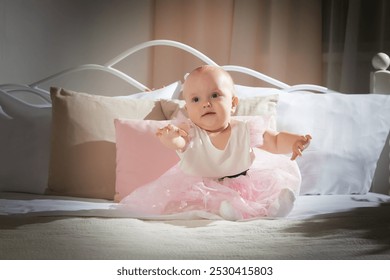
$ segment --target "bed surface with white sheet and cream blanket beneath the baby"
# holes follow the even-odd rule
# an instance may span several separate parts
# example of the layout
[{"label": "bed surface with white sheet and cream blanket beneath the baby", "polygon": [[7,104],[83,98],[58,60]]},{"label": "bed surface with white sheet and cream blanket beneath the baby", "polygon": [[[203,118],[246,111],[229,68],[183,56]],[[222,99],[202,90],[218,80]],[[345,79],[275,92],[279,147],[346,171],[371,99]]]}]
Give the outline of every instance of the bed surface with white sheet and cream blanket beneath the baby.
[{"label": "bed surface with white sheet and cream blanket beneath the baby", "polygon": [[105,200],[2,193],[0,259],[390,259],[389,203],[374,193],[300,196],[282,219],[158,221]]}]

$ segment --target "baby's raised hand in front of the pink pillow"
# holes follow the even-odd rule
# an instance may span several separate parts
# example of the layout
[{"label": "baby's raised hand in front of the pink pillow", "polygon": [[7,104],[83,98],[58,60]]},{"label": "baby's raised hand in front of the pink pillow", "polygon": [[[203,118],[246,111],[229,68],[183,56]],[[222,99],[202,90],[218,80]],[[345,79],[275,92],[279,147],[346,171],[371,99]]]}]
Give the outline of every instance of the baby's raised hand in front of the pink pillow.
[{"label": "baby's raised hand in front of the pink pillow", "polygon": [[161,143],[173,150],[183,151],[187,145],[188,133],[172,124],[159,128],[156,135]]}]

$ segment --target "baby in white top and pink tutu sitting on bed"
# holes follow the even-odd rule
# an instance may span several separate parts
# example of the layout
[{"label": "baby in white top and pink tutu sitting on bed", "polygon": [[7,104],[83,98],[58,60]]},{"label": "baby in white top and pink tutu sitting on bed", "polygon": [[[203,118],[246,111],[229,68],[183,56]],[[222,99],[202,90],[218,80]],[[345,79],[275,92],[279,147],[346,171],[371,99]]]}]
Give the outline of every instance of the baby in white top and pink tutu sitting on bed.
[{"label": "baby in white top and pink tutu sitting on bed", "polygon": [[[268,130],[262,117],[232,118],[238,105],[231,76],[201,66],[183,84],[188,120],[157,131],[180,162],[156,181],[124,198],[142,214],[206,211],[227,220],[280,217],[293,208],[300,173],[291,160],[302,155],[310,135]],[[262,153],[256,158],[255,149]]]}]

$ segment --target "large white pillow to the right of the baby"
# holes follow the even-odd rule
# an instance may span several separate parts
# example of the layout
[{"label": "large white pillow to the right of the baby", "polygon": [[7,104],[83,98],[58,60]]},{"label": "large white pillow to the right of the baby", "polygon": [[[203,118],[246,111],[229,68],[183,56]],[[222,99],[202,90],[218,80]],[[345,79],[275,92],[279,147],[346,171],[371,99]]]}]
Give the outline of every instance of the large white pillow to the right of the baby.
[{"label": "large white pillow to the right of the baby", "polygon": [[365,194],[390,130],[390,95],[283,93],[279,131],[310,133],[301,194]]}]

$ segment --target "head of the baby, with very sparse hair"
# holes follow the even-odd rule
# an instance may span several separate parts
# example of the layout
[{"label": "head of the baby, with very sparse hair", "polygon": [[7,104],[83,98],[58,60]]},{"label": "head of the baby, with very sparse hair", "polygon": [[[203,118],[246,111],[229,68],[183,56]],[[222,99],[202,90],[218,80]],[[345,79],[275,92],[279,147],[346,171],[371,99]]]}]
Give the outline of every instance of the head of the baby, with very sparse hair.
[{"label": "head of the baby, with very sparse hair", "polygon": [[233,89],[232,80],[218,68],[192,72],[183,87],[191,121],[210,132],[226,128],[238,102]]}]

